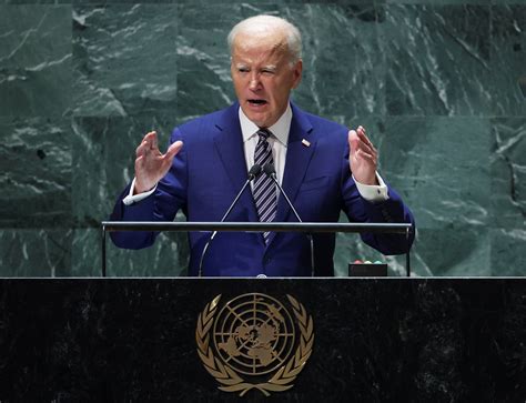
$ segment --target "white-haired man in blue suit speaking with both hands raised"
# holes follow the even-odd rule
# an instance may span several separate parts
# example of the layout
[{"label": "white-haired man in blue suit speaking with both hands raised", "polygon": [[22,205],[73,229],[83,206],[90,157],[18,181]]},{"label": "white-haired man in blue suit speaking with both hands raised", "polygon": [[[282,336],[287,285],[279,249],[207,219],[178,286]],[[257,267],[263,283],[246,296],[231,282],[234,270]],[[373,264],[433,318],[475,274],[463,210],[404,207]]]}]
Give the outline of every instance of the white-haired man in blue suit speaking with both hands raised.
[{"label": "white-haired man in blue suit speaking with both hands raised", "polygon": [[[347,130],[290,101],[302,77],[301,36],[294,26],[277,17],[253,17],[232,29],[229,44],[237,102],[176,128],[164,154],[156,133],[148,133],[136,149],[135,178],[119,198],[112,220],[172,221],[182,209],[189,221],[220,221],[250,168],[270,161],[304,222],[336,222],[343,210],[354,222],[414,223],[377,174],[377,152],[363,127]],[[255,179],[227,221],[297,221],[267,181],[264,173]],[[156,233],[111,236],[118,246],[140,249],[151,245]],[[189,274],[196,275],[210,234],[189,236]],[[362,239],[384,254],[409,248],[404,235],[368,233]],[[314,235],[316,275],[334,274],[334,234]],[[310,256],[302,233],[223,232],[211,243],[202,274],[304,276],[311,274]]]}]

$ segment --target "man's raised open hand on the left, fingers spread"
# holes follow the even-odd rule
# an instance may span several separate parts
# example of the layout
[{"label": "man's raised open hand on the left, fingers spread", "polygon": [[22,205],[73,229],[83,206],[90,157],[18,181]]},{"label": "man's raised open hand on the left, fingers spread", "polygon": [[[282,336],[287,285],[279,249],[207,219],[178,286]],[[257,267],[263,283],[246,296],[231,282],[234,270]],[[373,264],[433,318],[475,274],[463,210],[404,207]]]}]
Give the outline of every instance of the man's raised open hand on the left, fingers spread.
[{"label": "man's raised open hand on the left, fingers spread", "polygon": [[133,194],[152,190],[168,173],[173,158],[182,149],[183,142],[175,141],[165,154],[159,151],[158,133],[151,131],[141,141],[135,151],[135,189]]}]

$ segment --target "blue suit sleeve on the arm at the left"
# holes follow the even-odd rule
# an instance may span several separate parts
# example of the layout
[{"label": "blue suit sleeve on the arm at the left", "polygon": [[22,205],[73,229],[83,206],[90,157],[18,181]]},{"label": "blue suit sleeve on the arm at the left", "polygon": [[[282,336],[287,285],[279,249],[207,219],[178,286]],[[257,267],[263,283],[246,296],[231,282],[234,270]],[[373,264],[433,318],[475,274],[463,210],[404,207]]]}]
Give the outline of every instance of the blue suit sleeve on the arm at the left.
[{"label": "blue suit sleeve on the arm at the left", "polygon": [[[175,129],[170,138],[170,144],[182,139],[182,133]],[[184,140],[183,140],[184,143]],[[112,221],[173,221],[180,209],[186,210],[188,188],[188,153],[185,145],[175,155],[172,167],[166,175],[161,179],[153,194],[131,205],[125,205],[123,199],[130,192],[131,183],[119,195],[113,212]],[[158,232],[120,231],[111,232],[113,243],[119,248],[142,249],[153,244]]]}]

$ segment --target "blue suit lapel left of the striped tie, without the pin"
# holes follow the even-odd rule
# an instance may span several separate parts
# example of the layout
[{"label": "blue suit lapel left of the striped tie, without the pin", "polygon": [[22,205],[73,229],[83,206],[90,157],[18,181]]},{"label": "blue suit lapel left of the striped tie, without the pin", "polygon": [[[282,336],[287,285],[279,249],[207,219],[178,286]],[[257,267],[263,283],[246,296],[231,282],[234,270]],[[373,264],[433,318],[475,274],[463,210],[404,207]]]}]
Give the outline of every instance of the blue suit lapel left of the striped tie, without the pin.
[{"label": "blue suit lapel left of the striped tie, without the pin", "polygon": [[[215,127],[218,128],[218,133],[214,138],[215,151],[232,182],[233,194],[237,194],[247,179],[243,135],[241,134],[239,119],[239,104],[234,103],[226,109],[218,119]],[[246,208],[249,221],[257,221],[257,213],[250,187],[245,189],[239,202]]]}]

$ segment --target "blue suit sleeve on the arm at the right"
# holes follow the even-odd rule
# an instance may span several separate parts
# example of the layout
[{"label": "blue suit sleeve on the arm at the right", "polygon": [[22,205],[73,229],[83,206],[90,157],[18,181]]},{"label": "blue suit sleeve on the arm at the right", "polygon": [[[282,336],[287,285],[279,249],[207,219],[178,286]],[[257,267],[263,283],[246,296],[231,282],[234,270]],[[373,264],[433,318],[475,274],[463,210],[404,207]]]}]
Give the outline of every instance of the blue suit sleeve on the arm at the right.
[{"label": "blue suit sleeve on the arm at the right", "polygon": [[405,234],[362,233],[362,240],[383,254],[406,253],[415,236],[413,213],[402,198],[387,184],[388,199],[370,202],[360,195],[348,164],[348,144],[346,145],[342,167],[343,210],[351,222],[365,223],[411,223],[413,230],[407,240]]}]

